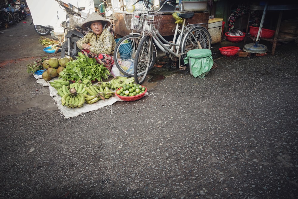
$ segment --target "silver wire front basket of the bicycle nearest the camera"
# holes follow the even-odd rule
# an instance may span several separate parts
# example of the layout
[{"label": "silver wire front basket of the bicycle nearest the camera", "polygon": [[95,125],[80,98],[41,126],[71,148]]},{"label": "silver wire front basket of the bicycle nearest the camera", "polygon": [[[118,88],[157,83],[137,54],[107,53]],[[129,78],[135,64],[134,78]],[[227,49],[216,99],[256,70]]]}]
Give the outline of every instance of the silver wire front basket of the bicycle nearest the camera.
[{"label": "silver wire front basket of the bicycle nearest the camera", "polygon": [[154,13],[154,12],[148,12],[148,13],[141,13],[139,14],[139,26],[137,28],[138,32],[142,33],[156,33],[159,30],[159,24],[162,20],[162,13]]}]

